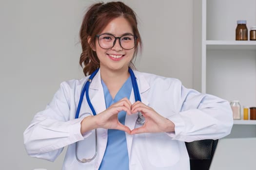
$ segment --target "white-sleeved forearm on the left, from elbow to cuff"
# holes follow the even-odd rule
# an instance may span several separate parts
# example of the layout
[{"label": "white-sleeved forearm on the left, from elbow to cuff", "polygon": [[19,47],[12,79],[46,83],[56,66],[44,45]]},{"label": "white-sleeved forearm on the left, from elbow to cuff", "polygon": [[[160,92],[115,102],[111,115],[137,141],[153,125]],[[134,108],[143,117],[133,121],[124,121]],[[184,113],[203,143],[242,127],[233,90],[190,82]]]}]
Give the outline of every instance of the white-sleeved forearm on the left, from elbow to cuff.
[{"label": "white-sleeved forearm on the left, from elbow to cuff", "polygon": [[40,116],[34,119],[24,132],[24,145],[30,155],[58,150],[82,140],[80,121],[74,119],[66,122],[47,119]]}]

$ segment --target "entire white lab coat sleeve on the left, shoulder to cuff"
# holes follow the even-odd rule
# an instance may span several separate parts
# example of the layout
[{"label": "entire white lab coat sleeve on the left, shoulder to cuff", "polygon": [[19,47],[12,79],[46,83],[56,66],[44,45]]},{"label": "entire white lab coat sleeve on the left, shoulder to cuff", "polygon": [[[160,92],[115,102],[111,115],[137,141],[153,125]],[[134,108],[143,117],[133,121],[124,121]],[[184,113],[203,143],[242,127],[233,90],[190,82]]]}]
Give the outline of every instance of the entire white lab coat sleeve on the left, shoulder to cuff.
[{"label": "entire white lab coat sleeve on the left, shoulder to cuff", "polygon": [[[80,133],[80,122],[83,118],[70,120],[70,99],[72,93],[64,82],[54,95],[46,109],[36,114],[28,128],[24,131],[24,145],[27,153],[54,161],[63,147],[84,139]],[[74,94],[74,92],[73,92]]]}]

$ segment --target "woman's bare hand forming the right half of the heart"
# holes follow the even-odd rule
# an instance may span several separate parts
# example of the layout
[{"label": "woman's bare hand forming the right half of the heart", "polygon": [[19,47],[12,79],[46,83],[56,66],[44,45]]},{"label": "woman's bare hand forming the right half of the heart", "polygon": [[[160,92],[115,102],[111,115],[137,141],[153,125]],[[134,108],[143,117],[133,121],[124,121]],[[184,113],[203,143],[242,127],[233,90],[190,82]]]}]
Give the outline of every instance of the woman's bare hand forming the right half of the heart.
[{"label": "woman's bare hand forming the right half of the heart", "polygon": [[145,123],[139,128],[133,129],[131,135],[140,133],[174,132],[174,123],[159,115],[153,108],[142,102],[135,102],[131,107],[132,114],[141,112],[145,118]]}]

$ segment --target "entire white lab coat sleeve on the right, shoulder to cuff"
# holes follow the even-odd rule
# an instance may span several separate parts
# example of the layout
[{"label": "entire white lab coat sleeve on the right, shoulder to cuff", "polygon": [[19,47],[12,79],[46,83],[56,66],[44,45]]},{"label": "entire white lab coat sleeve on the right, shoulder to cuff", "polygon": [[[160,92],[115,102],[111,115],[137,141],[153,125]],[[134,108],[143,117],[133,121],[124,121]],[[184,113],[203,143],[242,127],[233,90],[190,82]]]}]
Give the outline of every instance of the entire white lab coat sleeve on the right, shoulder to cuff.
[{"label": "entire white lab coat sleeve on the right, shoulder to cuff", "polygon": [[177,114],[168,117],[175,124],[175,132],[168,133],[175,140],[191,142],[218,139],[230,134],[233,114],[229,102],[209,94],[201,94],[184,86],[175,87]]}]

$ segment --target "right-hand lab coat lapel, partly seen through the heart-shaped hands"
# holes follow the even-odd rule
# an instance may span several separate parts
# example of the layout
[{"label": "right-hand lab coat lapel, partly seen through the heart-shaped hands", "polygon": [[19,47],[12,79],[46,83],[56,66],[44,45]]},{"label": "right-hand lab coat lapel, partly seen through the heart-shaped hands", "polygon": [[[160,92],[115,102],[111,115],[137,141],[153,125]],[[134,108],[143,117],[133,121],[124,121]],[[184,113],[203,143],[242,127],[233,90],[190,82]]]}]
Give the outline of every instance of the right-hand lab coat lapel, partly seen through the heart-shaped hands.
[{"label": "right-hand lab coat lapel, partly seen through the heart-shaped hands", "polygon": [[[137,71],[134,71],[134,73],[135,73],[135,77],[137,78],[138,90],[139,90],[139,93],[140,93],[141,102],[148,105],[149,102],[148,102],[147,97],[146,97],[146,91],[150,88],[150,86],[149,86],[149,84],[146,81],[144,76],[142,76]],[[131,92],[130,102],[132,104],[136,102],[133,90]],[[129,127],[131,130],[133,130],[135,128],[137,118],[138,118],[138,114],[133,114],[131,116],[126,116],[125,125],[127,127]],[[131,156],[131,149],[132,149],[133,135],[126,134],[126,141],[127,141],[128,155],[130,157]]]}]

